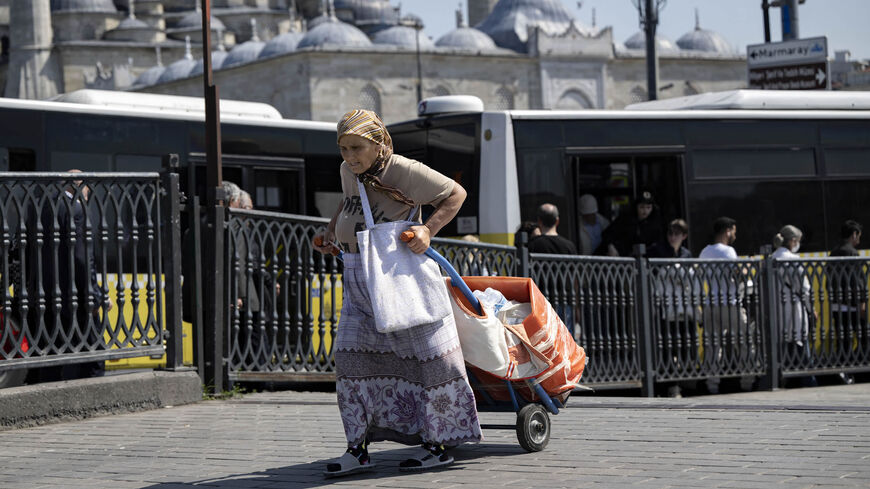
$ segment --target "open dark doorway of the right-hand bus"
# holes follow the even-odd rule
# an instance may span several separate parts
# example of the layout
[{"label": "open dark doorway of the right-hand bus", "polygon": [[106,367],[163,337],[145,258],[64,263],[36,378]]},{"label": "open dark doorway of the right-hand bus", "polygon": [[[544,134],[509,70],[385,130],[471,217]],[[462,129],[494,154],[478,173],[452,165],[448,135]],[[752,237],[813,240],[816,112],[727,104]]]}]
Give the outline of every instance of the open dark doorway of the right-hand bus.
[{"label": "open dark doorway of the right-hand bus", "polygon": [[582,229],[580,198],[590,194],[598,213],[613,222],[635,212],[633,202],[648,191],[662,223],[686,218],[683,154],[681,152],[569,153],[574,169],[576,230]]}]

